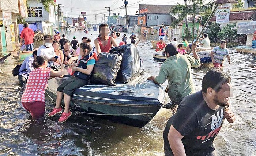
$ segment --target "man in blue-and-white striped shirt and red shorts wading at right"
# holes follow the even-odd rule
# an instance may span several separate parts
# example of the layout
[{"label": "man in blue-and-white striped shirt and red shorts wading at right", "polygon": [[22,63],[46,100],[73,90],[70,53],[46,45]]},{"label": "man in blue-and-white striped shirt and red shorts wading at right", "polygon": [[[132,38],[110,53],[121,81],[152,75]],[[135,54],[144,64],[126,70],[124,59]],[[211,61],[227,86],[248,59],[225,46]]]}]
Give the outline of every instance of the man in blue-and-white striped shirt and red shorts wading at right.
[{"label": "man in blue-and-white striped shirt and red shorts wading at right", "polygon": [[214,47],[211,51],[211,59],[215,68],[223,67],[225,56],[227,56],[227,59],[230,63],[229,49],[226,48],[226,45],[227,42],[225,40],[222,40],[221,45]]}]

